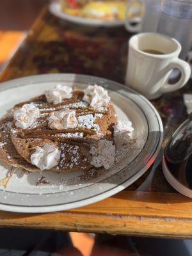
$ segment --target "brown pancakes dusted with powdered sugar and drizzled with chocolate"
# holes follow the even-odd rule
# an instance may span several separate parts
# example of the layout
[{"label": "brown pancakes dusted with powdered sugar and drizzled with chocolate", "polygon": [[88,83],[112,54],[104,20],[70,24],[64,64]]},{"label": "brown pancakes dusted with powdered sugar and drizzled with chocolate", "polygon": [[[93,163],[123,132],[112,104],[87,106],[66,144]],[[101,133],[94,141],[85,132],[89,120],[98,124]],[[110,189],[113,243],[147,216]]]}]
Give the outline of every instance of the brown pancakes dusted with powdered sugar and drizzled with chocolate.
[{"label": "brown pancakes dusted with powdered sugar and drizzled with chocolate", "polygon": [[[83,101],[83,90],[76,89],[72,98],[63,99],[60,104],[47,102],[45,95],[33,98],[14,106],[0,120],[0,159],[11,166],[21,167],[28,171],[39,169],[31,164],[31,154],[35,147],[43,147],[46,143],[61,150],[60,162],[51,171],[72,172],[89,170],[90,145],[93,141],[106,138],[113,141],[113,125],[116,124],[116,114],[111,102],[108,108],[97,110]],[[40,109],[40,118],[27,129],[15,126],[13,112],[24,104],[33,103]],[[75,109],[80,125],[75,128],[54,130],[48,126],[47,116],[60,109]]]}]

